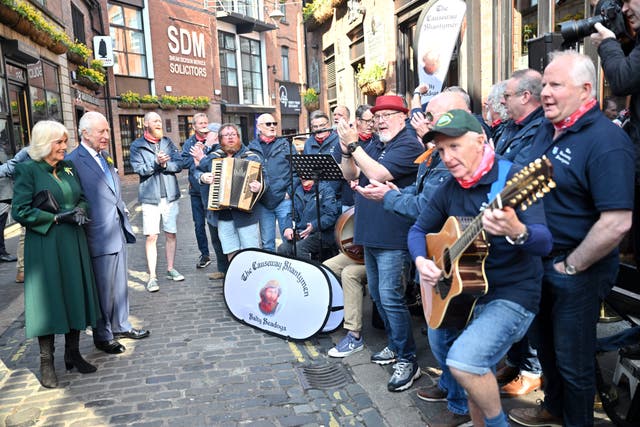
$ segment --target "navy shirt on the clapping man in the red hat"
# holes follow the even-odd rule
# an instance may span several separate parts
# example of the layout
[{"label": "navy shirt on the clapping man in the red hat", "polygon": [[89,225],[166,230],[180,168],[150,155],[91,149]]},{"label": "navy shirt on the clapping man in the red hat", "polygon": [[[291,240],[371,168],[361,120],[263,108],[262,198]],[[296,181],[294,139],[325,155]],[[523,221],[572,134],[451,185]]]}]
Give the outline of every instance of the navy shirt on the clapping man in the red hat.
[{"label": "navy shirt on the clapping man in the red hat", "polygon": [[[384,144],[379,139],[364,148],[373,160],[387,168],[393,183],[399,188],[411,185],[418,165],[414,160],[422,154],[424,146],[406,128]],[[365,187],[369,178],[360,172],[359,184]],[[380,249],[407,249],[407,231],[412,221],[386,211],[382,203],[356,194],[354,243]]]}]

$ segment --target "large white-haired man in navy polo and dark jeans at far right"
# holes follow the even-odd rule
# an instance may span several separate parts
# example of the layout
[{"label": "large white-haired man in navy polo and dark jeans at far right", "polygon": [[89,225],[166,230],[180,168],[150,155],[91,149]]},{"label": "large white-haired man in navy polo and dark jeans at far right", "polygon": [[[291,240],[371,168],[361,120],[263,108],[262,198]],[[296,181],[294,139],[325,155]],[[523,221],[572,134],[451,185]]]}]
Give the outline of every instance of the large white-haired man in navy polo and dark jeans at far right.
[{"label": "large white-haired man in navy polo and dark jeans at far right", "polygon": [[544,198],[553,250],[543,258],[542,299],[530,338],[544,376],[544,402],[512,409],[523,425],[593,425],[596,323],[615,283],[618,244],[631,226],[634,152],[595,100],[593,61],[555,52],[542,77],[547,122],[530,158],[546,154],[556,188]]}]

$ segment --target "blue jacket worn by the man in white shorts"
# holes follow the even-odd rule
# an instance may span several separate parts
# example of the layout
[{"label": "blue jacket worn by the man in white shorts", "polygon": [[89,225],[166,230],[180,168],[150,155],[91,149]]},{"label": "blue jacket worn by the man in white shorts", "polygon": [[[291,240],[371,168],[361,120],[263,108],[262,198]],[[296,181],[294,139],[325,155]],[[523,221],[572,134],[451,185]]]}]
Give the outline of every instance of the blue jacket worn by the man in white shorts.
[{"label": "blue jacket worn by the man in white shorts", "polygon": [[[171,157],[164,168],[156,163],[156,148]],[[182,170],[182,156],[178,147],[169,138],[162,137],[158,144],[152,144],[144,139],[144,136],[134,140],[129,151],[129,162],[133,171],[140,175],[140,187],[138,187],[140,203],[153,205],[160,203],[160,180],[167,191],[168,202],[180,198],[176,174]]]}]

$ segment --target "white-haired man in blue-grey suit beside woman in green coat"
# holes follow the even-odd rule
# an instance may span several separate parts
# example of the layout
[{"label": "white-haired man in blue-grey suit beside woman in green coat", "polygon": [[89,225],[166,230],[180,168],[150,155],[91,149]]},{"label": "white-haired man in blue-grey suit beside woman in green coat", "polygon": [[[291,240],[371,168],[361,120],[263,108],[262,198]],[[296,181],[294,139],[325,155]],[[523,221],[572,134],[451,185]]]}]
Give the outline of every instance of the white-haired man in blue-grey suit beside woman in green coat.
[{"label": "white-haired man in blue-grey suit beside woman in green coat", "polygon": [[111,354],[125,351],[116,338],[141,339],[149,331],[129,323],[126,243],[134,243],[126,206],[120,193],[120,179],[107,153],[110,129],[98,112],[88,112],[78,124],[80,145],[67,158],[78,171],[89,202],[91,222],[86,226],[89,251],[100,299],[102,319],[93,330],[95,346]]}]

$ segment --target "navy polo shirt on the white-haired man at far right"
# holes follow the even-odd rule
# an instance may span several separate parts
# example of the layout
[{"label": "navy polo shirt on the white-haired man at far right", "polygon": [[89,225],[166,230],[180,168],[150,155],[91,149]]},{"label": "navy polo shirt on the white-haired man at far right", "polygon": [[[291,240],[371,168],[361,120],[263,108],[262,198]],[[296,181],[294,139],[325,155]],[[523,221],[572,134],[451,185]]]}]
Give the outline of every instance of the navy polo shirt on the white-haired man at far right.
[{"label": "navy polo shirt on the white-haired man at far right", "polygon": [[[633,209],[634,151],[625,132],[594,106],[555,140],[543,123],[530,159],[546,154],[557,187],[544,199],[554,250],[578,246],[609,210]],[[612,255],[617,251],[613,251]]]}]

